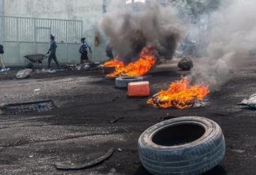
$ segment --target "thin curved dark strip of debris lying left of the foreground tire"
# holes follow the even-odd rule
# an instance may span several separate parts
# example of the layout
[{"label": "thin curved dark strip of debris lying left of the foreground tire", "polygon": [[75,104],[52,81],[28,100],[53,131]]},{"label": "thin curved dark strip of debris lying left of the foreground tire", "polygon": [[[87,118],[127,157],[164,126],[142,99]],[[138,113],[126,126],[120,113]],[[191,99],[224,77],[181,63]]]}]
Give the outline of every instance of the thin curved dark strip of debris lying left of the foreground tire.
[{"label": "thin curved dark strip of debris lying left of the foreground tire", "polygon": [[92,166],[95,166],[97,164],[100,164],[101,162],[105,161],[106,159],[110,158],[112,156],[112,154],[114,153],[114,149],[111,148],[110,150],[108,150],[107,154],[105,154],[104,156],[94,159],[91,162],[87,162],[85,164],[81,164],[81,165],[75,165],[75,164],[70,164],[70,165],[65,165],[65,164],[60,164],[60,163],[55,163],[55,168],[56,169],[60,169],[60,170],[78,170],[78,169],[87,169],[90,168]]}]

